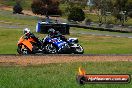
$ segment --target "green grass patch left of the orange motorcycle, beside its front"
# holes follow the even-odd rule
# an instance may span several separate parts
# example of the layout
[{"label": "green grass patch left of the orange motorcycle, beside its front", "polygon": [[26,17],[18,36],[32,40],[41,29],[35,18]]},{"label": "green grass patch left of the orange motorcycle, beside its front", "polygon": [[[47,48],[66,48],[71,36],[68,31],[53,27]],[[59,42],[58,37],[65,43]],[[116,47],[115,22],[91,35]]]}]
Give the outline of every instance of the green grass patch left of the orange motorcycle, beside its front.
[{"label": "green grass patch left of the orange motorcycle, beside its front", "polygon": [[20,35],[22,35],[20,29],[0,29],[0,53],[15,54],[17,49],[16,44]]}]

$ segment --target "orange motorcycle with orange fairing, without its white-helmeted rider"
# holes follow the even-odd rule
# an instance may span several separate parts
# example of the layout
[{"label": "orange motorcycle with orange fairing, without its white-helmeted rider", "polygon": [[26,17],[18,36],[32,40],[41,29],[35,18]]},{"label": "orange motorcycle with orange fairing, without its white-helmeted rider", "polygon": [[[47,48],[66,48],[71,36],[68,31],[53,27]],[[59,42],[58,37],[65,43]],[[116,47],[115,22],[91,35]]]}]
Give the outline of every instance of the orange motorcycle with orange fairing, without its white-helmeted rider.
[{"label": "orange motorcycle with orange fairing, without its white-helmeted rider", "polygon": [[35,54],[38,52],[42,52],[36,45],[36,41],[33,38],[25,38],[25,35],[21,36],[17,43],[17,52],[19,54]]}]

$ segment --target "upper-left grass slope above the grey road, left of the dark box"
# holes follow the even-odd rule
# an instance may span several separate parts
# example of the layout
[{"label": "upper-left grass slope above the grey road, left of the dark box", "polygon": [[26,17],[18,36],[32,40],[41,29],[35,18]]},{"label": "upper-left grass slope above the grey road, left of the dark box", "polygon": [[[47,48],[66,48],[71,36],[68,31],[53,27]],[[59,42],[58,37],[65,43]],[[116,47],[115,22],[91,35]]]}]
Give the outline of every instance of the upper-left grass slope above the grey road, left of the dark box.
[{"label": "upper-left grass slope above the grey road, left of the dark box", "polygon": [[12,22],[13,24],[19,23],[22,25],[33,25],[33,26],[35,26],[38,19],[39,19],[39,17],[36,17],[36,16],[12,14],[12,11],[0,10],[0,20]]}]

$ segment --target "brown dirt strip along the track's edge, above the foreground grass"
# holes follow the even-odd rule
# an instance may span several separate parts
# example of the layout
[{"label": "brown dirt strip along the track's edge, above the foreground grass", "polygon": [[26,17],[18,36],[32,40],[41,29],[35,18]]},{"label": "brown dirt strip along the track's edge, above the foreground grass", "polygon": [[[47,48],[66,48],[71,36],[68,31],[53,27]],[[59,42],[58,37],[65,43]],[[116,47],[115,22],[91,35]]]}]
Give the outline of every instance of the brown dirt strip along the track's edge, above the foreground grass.
[{"label": "brown dirt strip along the track's edge, above the foreground grass", "polygon": [[39,65],[49,63],[71,63],[87,61],[132,61],[132,56],[72,56],[72,55],[51,55],[51,56],[0,56],[0,65]]}]

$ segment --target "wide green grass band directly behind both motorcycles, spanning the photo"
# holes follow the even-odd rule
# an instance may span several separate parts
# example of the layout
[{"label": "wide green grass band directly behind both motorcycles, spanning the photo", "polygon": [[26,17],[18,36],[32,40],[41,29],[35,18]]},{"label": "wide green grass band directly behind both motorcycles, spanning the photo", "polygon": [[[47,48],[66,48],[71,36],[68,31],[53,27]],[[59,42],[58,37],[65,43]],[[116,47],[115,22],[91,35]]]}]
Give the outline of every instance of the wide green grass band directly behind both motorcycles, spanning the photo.
[{"label": "wide green grass band directly behind both motorcycles, spanning the photo", "polygon": [[[32,30],[33,32],[35,30]],[[0,28],[0,54],[17,54],[17,41],[22,35],[22,29]],[[35,33],[41,39],[43,34]],[[85,54],[132,54],[132,39],[104,36],[71,34],[67,37],[76,37],[84,47]]]}]

